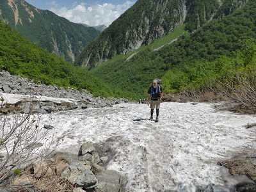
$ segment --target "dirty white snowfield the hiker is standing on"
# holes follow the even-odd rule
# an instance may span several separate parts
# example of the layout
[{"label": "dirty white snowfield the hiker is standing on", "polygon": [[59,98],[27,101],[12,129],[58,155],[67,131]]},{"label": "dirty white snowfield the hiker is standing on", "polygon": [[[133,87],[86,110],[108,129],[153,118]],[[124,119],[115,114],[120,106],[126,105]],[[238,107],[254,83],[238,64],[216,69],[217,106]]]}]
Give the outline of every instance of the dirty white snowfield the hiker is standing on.
[{"label": "dirty white snowfield the hiker is standing on", "polygon": [[[13,103],[24,95],[3,93],[2,97]],[[156,123],[148,120],[147,104],[123,103],[44,114],[40,126],[51,124],[56,138],[64,139],[57,151],[76,155],[83,143],[103,143],[116,136],[112,146],[116,154],[106,168],[127,177],[125,191],[230,192],[239,182],[252,180],[230,175],[217,163],[255,154],[256,127],[246,129],[246,125],[256,120],[255,115],[214,106],[218,104],[163,102]]]}]

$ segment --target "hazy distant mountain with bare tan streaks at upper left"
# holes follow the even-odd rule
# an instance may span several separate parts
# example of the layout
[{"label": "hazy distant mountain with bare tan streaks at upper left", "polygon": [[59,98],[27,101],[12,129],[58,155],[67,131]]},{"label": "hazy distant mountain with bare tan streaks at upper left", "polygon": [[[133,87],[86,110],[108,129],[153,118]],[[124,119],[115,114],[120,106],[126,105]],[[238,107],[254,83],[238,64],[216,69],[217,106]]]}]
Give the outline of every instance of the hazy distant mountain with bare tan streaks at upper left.
[{"label": "hazy distant mountain with bare tan streaks at upper left", "polygon": [[95,28],[75,24],[24,0],[1,0],[0,17],[31,42],[71,63],[100,34]]}]

